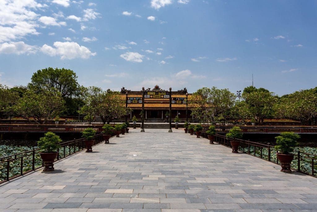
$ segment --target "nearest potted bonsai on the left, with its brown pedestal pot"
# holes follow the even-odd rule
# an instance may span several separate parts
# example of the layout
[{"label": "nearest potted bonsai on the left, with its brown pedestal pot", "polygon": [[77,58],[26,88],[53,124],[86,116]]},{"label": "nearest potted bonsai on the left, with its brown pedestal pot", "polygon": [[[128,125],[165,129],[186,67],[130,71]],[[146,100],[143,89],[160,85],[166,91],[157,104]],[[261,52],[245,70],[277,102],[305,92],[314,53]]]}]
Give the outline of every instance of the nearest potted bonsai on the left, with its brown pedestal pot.
[{"label": "nearest potted bonsai on the left, with its brown pedestal pot", "polygon": [[44,137],[37,141],[37,145],[41,148],[41,158],[43,160],[43,172],[54,171],[54,161],[59,150],[59,143],[62,140],[58,135],[52,132],[45,133]]}]

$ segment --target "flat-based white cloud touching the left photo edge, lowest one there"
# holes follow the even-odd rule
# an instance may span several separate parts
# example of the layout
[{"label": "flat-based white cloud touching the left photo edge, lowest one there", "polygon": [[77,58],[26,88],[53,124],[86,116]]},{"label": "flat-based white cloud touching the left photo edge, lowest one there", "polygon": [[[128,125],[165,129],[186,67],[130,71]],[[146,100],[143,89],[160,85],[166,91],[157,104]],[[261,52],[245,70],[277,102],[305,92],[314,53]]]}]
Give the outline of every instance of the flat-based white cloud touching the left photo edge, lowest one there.
[{"label": "flat-based white cloud touching the left photo edge, lowest one there", "polygon": [[25,44],[23,41],[0,44],[0,54],[35,54],[37,46]]}]

